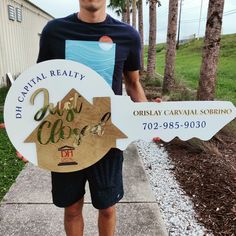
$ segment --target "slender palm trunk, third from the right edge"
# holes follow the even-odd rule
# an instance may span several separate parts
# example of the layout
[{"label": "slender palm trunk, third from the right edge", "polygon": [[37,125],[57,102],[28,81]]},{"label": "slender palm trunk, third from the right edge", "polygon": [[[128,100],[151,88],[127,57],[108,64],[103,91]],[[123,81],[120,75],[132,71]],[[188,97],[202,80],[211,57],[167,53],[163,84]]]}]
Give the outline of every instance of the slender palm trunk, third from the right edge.
[{"label": "slender palm trunk, third from the right edge", "polygon": [[156,69],[156,0],[149,1],[149,46],[147,79],[155,77]]}]

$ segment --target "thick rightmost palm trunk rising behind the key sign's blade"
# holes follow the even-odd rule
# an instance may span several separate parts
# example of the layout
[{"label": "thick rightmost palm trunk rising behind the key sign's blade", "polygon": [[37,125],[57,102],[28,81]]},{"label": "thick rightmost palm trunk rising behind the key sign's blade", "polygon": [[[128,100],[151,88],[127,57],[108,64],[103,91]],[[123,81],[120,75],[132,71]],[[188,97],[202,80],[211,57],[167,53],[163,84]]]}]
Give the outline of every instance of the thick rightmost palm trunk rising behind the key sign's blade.
[{"label": "thick rightmost palm trunk rising behind the key sign's blade", "polygon": [[224,0],[209,0],[198,100],[213,100],[215,97],[223,10]]}]

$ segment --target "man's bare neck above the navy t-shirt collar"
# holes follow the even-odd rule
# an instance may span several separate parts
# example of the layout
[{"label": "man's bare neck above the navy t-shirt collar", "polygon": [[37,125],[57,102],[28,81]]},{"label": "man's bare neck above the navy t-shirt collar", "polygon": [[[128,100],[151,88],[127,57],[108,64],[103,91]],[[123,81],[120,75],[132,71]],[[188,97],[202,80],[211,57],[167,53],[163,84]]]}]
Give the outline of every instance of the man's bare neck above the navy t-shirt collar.
[{"label": "man's bare neck above the navy t-shirt collar", "polygon": [[77,13],[77,17],[87,23],[99,23],[106,19],[106,11],[105,9],[101,9],[96,12],[89,12],[81,9],[81,11]]}]

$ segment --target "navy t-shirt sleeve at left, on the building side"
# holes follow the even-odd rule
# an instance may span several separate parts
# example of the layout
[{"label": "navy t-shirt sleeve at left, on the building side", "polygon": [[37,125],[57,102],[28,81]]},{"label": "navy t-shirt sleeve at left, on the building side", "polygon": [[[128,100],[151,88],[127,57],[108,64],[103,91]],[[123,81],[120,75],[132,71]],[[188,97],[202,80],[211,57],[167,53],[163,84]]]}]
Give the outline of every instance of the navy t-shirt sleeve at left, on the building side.
[{"label": "navy t-shirt sleeve at left, on the building side", "polygon": [[50,47],[49,47],[49,32],[48,32],[48,24],[44,27],[39,42],[39,54],[37,63],[42,61],[50,60]]}]

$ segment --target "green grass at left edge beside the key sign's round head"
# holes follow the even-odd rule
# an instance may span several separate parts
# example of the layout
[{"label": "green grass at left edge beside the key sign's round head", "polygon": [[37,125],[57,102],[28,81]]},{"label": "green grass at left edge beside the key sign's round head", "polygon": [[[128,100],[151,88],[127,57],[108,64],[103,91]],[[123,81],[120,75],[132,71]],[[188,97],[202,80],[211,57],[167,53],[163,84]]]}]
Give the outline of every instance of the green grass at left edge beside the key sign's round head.
[{"label": "green grass at left edge beside the key sign's round head", "polygon": [[[8,88],[0,88],[0,106],[3,106]],[[0,111],[0,123],[3,123]],[[16,157],[16,150],[8,139],[5,129],[0,129],[0,201],[7,193],[24,167],[24,162]]]}]

